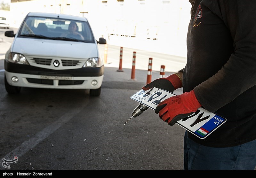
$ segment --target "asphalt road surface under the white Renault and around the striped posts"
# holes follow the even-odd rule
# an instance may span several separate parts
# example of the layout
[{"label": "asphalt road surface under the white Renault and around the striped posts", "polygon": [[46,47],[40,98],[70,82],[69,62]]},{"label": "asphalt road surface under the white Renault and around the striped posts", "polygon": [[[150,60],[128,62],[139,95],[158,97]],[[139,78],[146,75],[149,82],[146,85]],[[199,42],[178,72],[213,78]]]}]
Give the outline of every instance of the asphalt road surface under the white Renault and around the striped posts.
[{"label": "asphalt road surface under the white Renault and around the striped posts", "polygon": [[[138,105],[130,96],[146,84],[148,58],[153,57],[152,80],[159,78],[159,66],[166,65],[169,75],[184,65],[184,58],[124,47],[124,72],[117,72],[120,46],[108,45],[99,97],[90,97],[88,90],[32,88],[9,95],[3,56],[12,40],[4,31],[0,29],[0,158],[18,157],[10,170],[183,169],[183,128],[169,126],[151,109],[124,122]],[[103,49],[101,45],[101,53]],[[131,80],[135,50],[138,66],[136,80]]]}]

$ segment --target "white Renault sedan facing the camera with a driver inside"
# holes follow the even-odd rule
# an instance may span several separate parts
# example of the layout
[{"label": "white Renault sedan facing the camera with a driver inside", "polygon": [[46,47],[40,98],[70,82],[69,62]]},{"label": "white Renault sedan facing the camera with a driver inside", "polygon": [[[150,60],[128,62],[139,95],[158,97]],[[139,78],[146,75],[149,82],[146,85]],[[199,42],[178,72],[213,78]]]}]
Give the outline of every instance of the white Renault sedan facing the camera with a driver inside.
[{"label": "white Renault sedan facing the camera with a driver inside", "polygon": [[30,12],[5,54],[5,89],[20,93],[22,87],[90,89],[99,96],[104,62],[98,50],[104,38],[94,38],[88,20],[64,14]]}]

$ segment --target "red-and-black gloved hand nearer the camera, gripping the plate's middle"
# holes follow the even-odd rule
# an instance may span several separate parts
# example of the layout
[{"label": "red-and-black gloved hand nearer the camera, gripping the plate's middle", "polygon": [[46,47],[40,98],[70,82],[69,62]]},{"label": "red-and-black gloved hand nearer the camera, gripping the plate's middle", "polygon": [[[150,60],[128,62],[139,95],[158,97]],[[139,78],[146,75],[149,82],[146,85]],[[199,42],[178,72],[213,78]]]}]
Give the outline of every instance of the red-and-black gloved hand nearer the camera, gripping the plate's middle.
[{"label": "red-and-black gloved hand nearer the camera, gripping the plate's middle", "polygon": [[156,106],[155,113],[159,113],[160,119],[173,126],[178,120],[196,112],[201,106],[196,99],[194,90],[192,90],[160,102]]}]

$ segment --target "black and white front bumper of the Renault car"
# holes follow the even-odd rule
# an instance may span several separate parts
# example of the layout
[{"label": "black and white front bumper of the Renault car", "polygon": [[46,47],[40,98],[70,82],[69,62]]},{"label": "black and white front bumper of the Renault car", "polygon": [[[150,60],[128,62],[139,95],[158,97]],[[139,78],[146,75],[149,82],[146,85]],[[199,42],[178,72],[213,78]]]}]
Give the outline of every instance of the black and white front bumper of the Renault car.
[{"label": "black and white front bumper of the Renault car", "polygon": [[[17,87],[52,89],[98,89],[104,77],[104,66],[69,70],[52,70],[4,61],[7,82]],[[15,77],[17,81],[12,80]]]}]

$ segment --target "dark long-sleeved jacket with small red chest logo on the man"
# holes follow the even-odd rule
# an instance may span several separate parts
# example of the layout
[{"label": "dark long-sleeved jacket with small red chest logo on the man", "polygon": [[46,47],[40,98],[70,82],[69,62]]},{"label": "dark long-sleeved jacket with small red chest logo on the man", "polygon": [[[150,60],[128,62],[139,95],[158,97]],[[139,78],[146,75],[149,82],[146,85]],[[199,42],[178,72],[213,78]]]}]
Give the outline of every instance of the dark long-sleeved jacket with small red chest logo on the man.
[{"label": "dark long-sleeved jacket with small red chest logo on the man", "polygon": [[227,121],[195,142],[230,147],[256,139],[256,1],[195,0],[183,91]]}]

